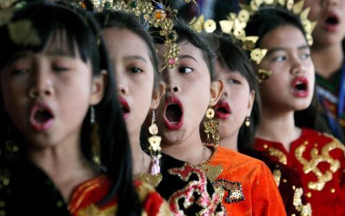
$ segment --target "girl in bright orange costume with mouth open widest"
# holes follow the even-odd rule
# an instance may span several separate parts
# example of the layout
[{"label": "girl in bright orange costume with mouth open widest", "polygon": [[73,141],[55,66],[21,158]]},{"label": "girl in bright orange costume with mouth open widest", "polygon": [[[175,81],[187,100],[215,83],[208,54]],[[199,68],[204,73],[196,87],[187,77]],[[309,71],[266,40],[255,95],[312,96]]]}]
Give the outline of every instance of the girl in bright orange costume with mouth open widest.
[{"label": "girl in bright orange costume with mouth open widest", "polygon": [[[157,108],[164,153],[201,167],[223,197],[228,215],[286,215],[270,170],[262,162],[201,142],[199,124],[208,106],[221,97],[224,84],[215,79],[214,55],[203,37],[182,21],[174,29],[181,46],[179,65],[162,72],[167,90]],[[157,44],[157,49],[163,61],[165,46]],[[212,110],[206,115],[211,117]],[[211,126],[215,121],[206,122],[210,126],[206,130],[217,130]],[[215,133],[209,135],[217,138]]]}]

